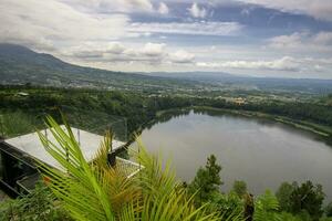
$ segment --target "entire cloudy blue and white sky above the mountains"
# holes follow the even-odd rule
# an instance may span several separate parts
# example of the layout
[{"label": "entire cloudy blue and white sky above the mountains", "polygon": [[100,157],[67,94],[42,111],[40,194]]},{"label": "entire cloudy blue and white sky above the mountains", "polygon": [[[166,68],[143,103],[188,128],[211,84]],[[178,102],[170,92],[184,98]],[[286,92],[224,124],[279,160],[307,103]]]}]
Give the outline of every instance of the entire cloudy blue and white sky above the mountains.
[{"label": "entire cloudy blue and white sky above the mountains", "polygon": [[331,0],[1,0],[0,21],[80,65],[332,78]]}]

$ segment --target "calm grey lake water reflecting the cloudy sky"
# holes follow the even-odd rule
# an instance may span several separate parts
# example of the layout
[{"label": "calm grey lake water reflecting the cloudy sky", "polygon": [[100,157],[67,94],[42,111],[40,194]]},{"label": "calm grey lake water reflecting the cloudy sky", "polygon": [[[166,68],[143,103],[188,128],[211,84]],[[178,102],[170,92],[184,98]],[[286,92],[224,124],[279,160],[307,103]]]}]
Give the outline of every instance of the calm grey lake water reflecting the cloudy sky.
[{"label": "calm grey lake water reflecting the cloudy sky", "polygon": [[170,157],[184,181],[214,154],[222,166],[224,191],[237,179],[256,194],[276,190],[282,181],[312,180],[332,200],[332,147],[282,124],[190,112],[145,129],[142,140],[149,151]]}]

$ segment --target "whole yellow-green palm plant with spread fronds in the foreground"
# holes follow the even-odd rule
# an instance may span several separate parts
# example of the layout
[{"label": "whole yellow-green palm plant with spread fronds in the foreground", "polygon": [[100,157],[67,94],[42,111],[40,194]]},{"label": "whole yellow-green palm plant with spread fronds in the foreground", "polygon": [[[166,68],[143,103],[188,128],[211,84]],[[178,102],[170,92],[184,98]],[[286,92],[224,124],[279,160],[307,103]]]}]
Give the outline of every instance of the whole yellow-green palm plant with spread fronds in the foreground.
[{"label": "whole yellow-green palm plant with spread fronds in the foreground", "polygon": [[[65,120],[64,120],[65,122]],[[112,135],[106,134],[95,160],[89,164],[79,143],[65,123],[65,129],[52,118],[46,125],[56,144],[39,134],[46,151],[66,172],[44,164],[40,170],[48,186],[75,220],[148,220],[186,221],[222,220],[218,213],[207,212],[207,204],[196,208],[194,196],[188,196],[175,178],[169,164],[162,167],[158,157],[149,155],[142,143],[135,154],[144,169],[128,178],[121,168],[107,165]]]}]

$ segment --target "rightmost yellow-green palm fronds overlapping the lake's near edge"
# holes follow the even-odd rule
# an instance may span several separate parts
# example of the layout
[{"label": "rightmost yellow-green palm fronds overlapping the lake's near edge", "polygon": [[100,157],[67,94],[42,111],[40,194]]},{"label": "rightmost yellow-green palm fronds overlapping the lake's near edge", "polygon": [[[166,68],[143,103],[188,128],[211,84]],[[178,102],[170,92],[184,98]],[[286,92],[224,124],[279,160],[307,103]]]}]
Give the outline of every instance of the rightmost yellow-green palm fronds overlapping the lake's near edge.
[{"label": "rightmost yellow-green palm fronds overlapping the lake's near edge", "polygon": [[142,220],[219,220],[217,213],[207,214],[207,204],[195,208],[194,196],[189,197],[176,180],[170,162],[163,169],[162,160],[149,155],[137,139],[137,160],[145,167],[139,172],[139,185],[144,199]]}]

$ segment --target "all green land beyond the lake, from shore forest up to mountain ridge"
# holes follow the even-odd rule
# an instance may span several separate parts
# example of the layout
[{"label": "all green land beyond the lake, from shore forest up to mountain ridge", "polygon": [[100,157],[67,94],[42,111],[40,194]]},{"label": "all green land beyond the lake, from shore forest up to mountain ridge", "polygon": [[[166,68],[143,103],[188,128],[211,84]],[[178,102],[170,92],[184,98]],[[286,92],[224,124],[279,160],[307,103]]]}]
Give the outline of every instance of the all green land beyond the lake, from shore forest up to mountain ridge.
[{"label": "all green land beyond the lake, from shore forest up to mountain ridge", "polygon": [[14,44],[0,49],[0,114],[13,109],[50,114],[50,108],[68,105],[127,117],[133,133],[154,120],[158,110],[212,107],[279,120],[332,140],[332,81],[222,77],[221,73],[153,76],[72,65]]}]

